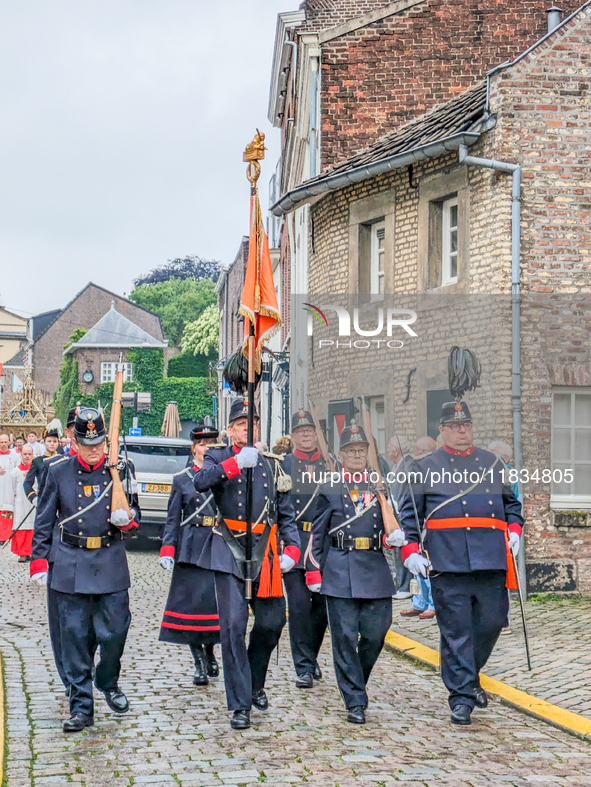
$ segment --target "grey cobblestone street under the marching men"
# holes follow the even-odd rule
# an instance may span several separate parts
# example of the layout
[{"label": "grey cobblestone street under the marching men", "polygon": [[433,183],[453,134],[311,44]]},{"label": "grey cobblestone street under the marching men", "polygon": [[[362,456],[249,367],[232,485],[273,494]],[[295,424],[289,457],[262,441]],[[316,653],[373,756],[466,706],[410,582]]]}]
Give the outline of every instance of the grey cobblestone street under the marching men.
[{"label": "grey cobblestone street under the marching men", "polygon": [[[587,775],[591,748],[586,742],[496,703],[476,712],[472,727],[453,728],[439,677],[387,652],[370,682],[367,725],[348,725],[328,649],[321,658],[325,679],[312,691],[298,690],[286,636],[268,682],[270,710],[253,712],[250,730],[233,732],[223,680],[205,689],[194,687],[188,649],[157,640],[169,575],[158,568],[155,553],[132,553],[130,565],[134,617],[121,687],[131,710],[116,717],[97,698],[95,726],[66,736],[61,723],[67,716],[67,702],[49,647],[45,591],[27,581],[28,567],[17,565],[8,550],[0,552],[7,787],[68,783],[210,787],[261,782],[340,787],[354,783],[591,785]],[[589,610],[574,607],[577,622],[569,628],[564,609],[573,607],[557,614],[550,604],[534,609],[534,637],[537,623],[550,636],[545,651],[546,681],[551,684],[556,674],[570,669],[566,651],[557,652],[556,646],[579,636],[581,619]],[[399,620],[395,613],[397,629]],[[552,639],[552,625],[561,629],[556,639]],[[413,636],[414,624],[405,626],[406,633],[411,629]],[[433,644],[435,627],[427,630],[423,624],[420,631]],[[517,634],[503,637],[489,674],[507,680],[516,675],[521,680],[521,673],[501,669],[503,652],[510,655],[513,648],[519,654],[515,663],[518,658],[521,664],[519,644]],[[587,644],[581,638],[569,647],[580,654]],[[543,649],[539,636],[534,651],[537,664]],[[577,655],[575,663],[582,664],[582,658]],[[558,665],[554,672],[550,662]],[[576,684],[574,694],[581,676],[582,672],[570,677]],[[537,678],[539,682],[544,678],[541,667]],[[540,694],[543,690],[549,691],[541,685]]]}]

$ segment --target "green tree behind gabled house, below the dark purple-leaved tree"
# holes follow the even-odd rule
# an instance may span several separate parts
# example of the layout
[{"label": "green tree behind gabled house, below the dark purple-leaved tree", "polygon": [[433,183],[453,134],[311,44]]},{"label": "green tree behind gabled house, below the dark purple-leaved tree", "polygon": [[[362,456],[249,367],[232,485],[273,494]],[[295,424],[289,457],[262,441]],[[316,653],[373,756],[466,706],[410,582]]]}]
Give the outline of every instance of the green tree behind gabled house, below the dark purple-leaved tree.
[{"label": "green tree behind gabled house, below the dark purple-leaved tree", "polygon": [[140,284],[130,300],[160,315],[162,329],[171,347],[178,347],[189,322],[216,303],[215,285],[211,279],[169,279],[157,284]]}]

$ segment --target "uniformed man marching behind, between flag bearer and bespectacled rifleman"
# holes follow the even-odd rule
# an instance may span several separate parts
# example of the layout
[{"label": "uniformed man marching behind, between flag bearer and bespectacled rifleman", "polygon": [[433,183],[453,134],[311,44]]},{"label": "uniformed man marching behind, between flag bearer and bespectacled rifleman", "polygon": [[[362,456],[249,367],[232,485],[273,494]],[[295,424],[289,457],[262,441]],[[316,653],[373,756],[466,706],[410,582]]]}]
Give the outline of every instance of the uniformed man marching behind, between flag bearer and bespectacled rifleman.
[{"label": "uniformed man marching behind, between flag bearer and bespectacled rifleman", "polygon": [[312,593],[306,585],[306,554],[314,509],[318,500],[319,481],[328,469],[316,445],[316,427],[310,413],[300,410],[291,419],[293,453],[285,457],[283,469],[291,476],[291,499],[300,534],[301,556],[293,571],[283,581],[289,603],[289,639],[296,671],[296,686],[310,689],[314,678],[322,672],[317,657],[327,626],[326,600],[320,593]]}]

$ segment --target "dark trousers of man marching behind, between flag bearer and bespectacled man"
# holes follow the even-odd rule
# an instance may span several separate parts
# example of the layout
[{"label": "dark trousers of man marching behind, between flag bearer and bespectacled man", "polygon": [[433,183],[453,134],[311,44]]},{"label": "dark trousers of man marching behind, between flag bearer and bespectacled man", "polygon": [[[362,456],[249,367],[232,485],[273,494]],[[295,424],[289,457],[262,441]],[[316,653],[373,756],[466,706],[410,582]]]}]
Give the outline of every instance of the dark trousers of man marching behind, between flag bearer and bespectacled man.
[{"label": "dark trousers of man marching behind, between flag bearer and bespectacled man", "polygon": [[328,623],[326,600],[308,589],[301,569],[284,574],[283,583],[289,599],[289,639],[295,671],[298,675],[313,674]]}]

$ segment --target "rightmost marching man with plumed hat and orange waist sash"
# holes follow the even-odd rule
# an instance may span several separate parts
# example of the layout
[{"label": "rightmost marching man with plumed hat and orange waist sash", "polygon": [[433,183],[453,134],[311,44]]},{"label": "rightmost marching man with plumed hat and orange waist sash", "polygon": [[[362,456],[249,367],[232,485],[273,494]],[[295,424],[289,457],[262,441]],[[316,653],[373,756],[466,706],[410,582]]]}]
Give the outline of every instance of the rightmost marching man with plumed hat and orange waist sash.
[{"label": "rightmost marching man with plumed hat and orange waist sash", "polygon": [[465,402],[443,405],[439,432],[443,447],[411,468],[419,480],[409,479],[400,503],[409,542],[401,554],[415,575],[426,577],[431,563],[451,721],[470,724],[474,706],[488,704],[478,673],[507,621],[507,587],[515,587],[510,550],[514,555],[519,550],[523,517],[503,484],[502,461],[474,446]]}]

